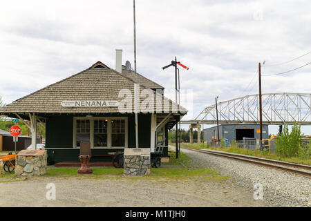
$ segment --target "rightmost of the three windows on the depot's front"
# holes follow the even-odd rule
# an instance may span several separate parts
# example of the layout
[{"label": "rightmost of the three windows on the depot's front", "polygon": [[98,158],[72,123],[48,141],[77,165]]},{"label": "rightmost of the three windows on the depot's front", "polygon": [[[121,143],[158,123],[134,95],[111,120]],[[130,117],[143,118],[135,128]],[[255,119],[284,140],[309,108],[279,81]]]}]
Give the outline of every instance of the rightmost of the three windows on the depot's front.
[{"label": "rightmost of the three windows on the depot's front", "polygon": [[125,146],[124,119],[111,119],[111,146]]}]

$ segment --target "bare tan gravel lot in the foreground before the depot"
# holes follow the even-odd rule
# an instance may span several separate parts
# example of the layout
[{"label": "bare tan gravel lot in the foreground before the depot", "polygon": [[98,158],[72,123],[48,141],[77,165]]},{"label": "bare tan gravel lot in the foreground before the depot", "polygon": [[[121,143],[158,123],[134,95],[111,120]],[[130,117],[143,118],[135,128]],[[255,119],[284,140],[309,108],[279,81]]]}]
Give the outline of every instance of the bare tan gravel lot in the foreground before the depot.
[{"label": "bare tan gravel lot in the foreground before the depot", "polygon": [[[24,179],[24,178],[23,178]],[[55,184],[55,200],[46,185]],[[215,180],[30,177],[0,183],[1,206],[265,206],[252,191]]]}]

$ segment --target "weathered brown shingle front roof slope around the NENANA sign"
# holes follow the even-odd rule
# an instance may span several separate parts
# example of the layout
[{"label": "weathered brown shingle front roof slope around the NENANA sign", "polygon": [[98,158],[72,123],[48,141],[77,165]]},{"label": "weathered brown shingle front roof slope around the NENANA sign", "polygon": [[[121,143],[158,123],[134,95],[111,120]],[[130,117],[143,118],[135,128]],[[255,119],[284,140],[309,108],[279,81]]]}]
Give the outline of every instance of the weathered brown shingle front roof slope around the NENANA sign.
[{"label": "weathered brown shingle front roof slope around the NENANA sign", "polygon": [[[133,83],[131,77],[122,75],[98,61],[91,68],[30,93],[30,95],[21,97],[15,102],[0,108],[0,113],[3,115],[6,115],[6,113],[120,113],[117,106],[64,107],[61,103],[63,101],[83,100],[121,102],[123,97],[118,97],[120,90],[129,89],[134,95]],[[140,84],[140,92],[144,89],[156,95],[156,92],[149,89],[149,86]],[[172,106],[176,106],[176,103],[167,97],[163,96],[162,98],[162,113],[167,113],[167,111],[172,110]],[[146,97],[141,97],[140,102],[144,99]],[[134,106],[133,96],[131,103]],[[152,110],[152,113],[157,111],[156,107],[153,107]],[[182,106],[180,106],[179,110],[182,115],[187,113],[187,110]]]}]

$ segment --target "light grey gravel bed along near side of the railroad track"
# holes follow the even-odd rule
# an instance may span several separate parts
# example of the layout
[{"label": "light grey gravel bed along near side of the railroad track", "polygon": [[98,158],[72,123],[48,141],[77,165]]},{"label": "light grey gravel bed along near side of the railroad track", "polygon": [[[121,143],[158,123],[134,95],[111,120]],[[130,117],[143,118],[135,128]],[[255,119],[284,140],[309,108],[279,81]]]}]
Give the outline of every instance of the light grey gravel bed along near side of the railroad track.
[{"label": "light grey gravel bed along near side of the railroad track", "polygon": [[254,190],[254,184],[263,185],[263,202],[267,206],[311,207],[311,179],[265,166],[257,166],[225,157],[217,157],[182,149],[189,157],[221,175],[229,175],[238,186]]}]

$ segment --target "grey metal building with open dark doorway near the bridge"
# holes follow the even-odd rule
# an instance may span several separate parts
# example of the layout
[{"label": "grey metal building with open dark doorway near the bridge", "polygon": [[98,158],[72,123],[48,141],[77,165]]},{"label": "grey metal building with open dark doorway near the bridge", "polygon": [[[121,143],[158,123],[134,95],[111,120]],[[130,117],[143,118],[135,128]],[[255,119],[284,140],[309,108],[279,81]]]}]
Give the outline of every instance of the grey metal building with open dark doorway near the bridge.
[{"label": "grey metal building with open dark doorway near the bridge", "polygon": [[[217,139],[217,126],[204,129],[204,141],[211,142]],[[260,126],[258,124],[223,124],[219,125],[220,139],[226,138],[229,142],[233,140],[242,141],[243,137],[258,138],[260,137]],[[263,125],[263,139],[269,138],[268,126]]]}]

